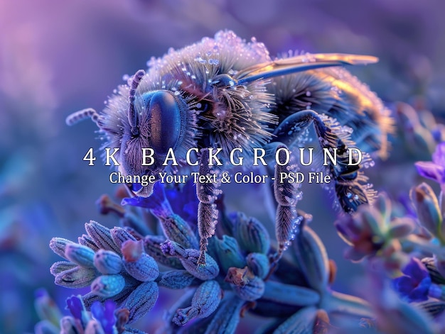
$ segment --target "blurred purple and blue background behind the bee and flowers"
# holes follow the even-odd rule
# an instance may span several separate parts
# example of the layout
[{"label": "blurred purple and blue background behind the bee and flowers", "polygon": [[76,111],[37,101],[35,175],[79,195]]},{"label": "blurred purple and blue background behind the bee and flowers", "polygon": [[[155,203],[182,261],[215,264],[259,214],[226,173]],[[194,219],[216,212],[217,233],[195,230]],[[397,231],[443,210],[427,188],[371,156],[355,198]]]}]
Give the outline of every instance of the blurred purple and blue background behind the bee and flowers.
[{"label": "blurred purple and blue background behind the bee and flowers", "polygon": [[[88,148],[99,150],[95,125],[68,128],[68,114],[100,110],[124,74],[146,68],[150,57],[230,29],[247,40],[254,36],[271,55],[380,57],[377,65],[351,70],[388,106],[404,101],[441,118],[444,12],[441,0],[0,0],[0,332],[33,332],[36,289],[48,289],[61,308],[73,294],[53,283],[49,267],[58,257],[50,238],[77,240],[90,219],[117,223],[95,205],[115,191],[110,170],[82,161]],[[403,150],[396,156],[368,174],[376,189],[406,196],[417,156]],[[228,205],[267,219],[251,196],[243,198],[229,198]],[[360,265],[342,258],[345,244],[333,228],[330,201],[321,187],[304,186],[301,207],[313,214],[311,226],[338,265],[334,287],[350,292]]]}]

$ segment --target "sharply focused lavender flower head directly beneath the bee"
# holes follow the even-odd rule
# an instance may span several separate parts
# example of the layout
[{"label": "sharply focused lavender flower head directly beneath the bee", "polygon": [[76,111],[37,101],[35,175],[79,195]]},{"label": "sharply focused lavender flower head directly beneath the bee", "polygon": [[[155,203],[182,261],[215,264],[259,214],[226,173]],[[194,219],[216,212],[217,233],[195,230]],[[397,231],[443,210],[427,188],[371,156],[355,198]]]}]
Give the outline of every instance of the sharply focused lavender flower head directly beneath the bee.
[{"label": "sharply focused lavender flower head directly beneath the bee", "polygon": [[[311,216],[306,213],[299,212],[300,233],[277,264],[277,248],[262,223],[241,212],[227,213],[220,202],[220,230],[209,240],[205,265],[198,265],[195,222],[185,221],[170,205],[171,199],[195,201],[188,191],[193,187],[164,192],[156,186],[152,198],[124,199],[123,204],[148,208],[159,221],[158,233],[141,235],[141,221],[134,223],[134,217],[130,221],[122,207],[102,199],[104,211],[104,205],[114,208],[132,227],[109,229],[90,222],[78,243],[51,240],[52,250],[68,260],[51,267],[55,283],[70,288],[90,286],[81,299],[68,301],[75,318],[81,318],[75,310],[85,306],[105,333],[104,323],[112,328],[113,314],[124,318],[118,333],[128,331],[127,323],[153,308],[159,287],[185,291],[167,312],[161,333],[195,333],[198,328],[205,328],[205,333],[234,333],[246,311],[271,318],[277,333],[301,325],[316,328],[319,321],[329,322],[331,312],[371,316],[365,301],[331,291],[335,266],[307,226]],[[110,305],[116,306],[114,313]]]}]

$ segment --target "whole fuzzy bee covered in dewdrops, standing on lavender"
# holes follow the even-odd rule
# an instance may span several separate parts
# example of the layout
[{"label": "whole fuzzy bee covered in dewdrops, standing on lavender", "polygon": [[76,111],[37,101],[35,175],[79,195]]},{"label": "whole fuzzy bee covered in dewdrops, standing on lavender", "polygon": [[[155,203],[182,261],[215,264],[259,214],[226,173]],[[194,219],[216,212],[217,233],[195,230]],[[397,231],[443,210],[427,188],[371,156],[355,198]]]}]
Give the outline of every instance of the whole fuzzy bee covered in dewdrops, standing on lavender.
[{"label": "whole fuzzy bee covered in dewdrops, standing on lavender", "polygon": [[[128,84],[119,86],[101,113],[87,108],[68,116],[67,123],[92,118],[106,138],[104,147],[120,149],[116,158],[124,175],[163,172],[166,167],[160,162],[170,149],[181,162],[193,147],[201,161],[208,157],[209,147],[220,148],[223,160],[235,148],[243,152],[252,152],[252,147],[265,147],[267,152],[278,147],[292,150],[313,126],[319,146],[338,153],[337,163],[326,169],[333,177],[338,206],[350,213],[370,202],[375,191],[363,174],[370,158],[348,165],[345,152],[348,147],[358,147],[385,157],[392,118],[382,101],[343,65],[374,62],[376,57],[345,54],[306,53],[272,59],[263,43],[254,38],[246,42],[225,30],[152,58],[148,71],[137,71]],[[149,167],[143,164],[144,147],[154,151],[154,164]],[[199,169],[201,174],[211,172],[203,163]],[[295,197],[295,187],[288,186],[288,195]],[[130,187],[135,195],[147,197],[154,184]],[[216,187],[197,184],[201,255],[218,218],[213,204]],[[281,205],[289,207],[289,219],[295,221],[296,211],[290,208],[295,201],[285,197]],[[289,219],[284,225],[293,226]],[[283,245],[291,238],[291,230],[279,236]],[[205,263],[205,257],[200,263]]]}]

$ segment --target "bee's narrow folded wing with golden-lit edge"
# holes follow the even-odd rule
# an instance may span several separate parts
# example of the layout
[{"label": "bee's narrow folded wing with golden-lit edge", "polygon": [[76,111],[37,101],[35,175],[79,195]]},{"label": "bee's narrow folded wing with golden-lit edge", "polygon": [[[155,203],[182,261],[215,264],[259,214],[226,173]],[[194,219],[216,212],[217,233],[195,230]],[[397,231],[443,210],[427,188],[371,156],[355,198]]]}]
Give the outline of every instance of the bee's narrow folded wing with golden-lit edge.
[{"label": "bee's narrow folded wing with golden-lit edge", "polygon": [[247,84],[257,79],[267,79],[308,69],[343,65],[366,65],[377,62],[378,58],[368,55],[348,55],[343,53],[315,53],[263,62],[237,73],[239,84]]}]

